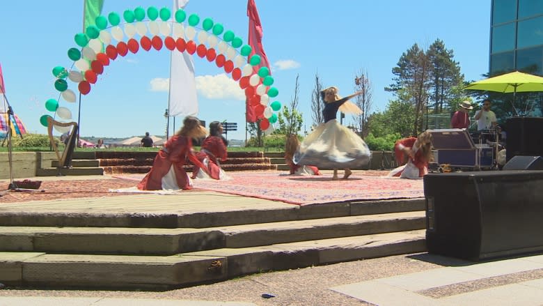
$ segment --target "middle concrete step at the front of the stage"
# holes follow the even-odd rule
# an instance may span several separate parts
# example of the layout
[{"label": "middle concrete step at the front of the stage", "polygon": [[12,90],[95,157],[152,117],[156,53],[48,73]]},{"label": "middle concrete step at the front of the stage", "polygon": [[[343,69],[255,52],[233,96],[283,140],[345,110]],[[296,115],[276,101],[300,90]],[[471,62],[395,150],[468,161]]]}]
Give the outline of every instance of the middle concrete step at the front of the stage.
[{"label": "middle concrete step at the front of the stage", "polygon": [[205,229],[0,227],[0,252],[177,254],[425,228],[425,212],[331,217]]}]

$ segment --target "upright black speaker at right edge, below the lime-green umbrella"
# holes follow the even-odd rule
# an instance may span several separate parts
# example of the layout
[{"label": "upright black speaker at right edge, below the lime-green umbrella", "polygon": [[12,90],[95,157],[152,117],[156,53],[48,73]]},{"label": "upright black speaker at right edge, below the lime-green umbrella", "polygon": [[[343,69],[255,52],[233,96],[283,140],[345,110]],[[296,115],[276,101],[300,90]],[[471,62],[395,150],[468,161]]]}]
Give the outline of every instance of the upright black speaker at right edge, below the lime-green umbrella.
[{"label": "upright black speaker at right edge, below the lime-green umbrella", "polygon": [[543,118],[513,117],[508,118],[507,161],[517,155],[543,156]]}]

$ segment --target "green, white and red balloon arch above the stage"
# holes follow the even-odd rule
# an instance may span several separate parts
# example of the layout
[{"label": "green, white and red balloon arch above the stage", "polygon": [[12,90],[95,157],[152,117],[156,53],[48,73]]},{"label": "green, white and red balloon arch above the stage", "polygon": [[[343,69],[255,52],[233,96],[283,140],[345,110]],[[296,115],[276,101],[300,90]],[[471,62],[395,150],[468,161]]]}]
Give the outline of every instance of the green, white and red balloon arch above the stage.
[{"label": "green, white and red balloon arch above the stage", "polygon": [[[145,51],[159,51],[166,47],[170,51],[196,53],[202,59],[214,61],[218,68],[223,68],[244,89],[248,107],[252,107],[257,118],[262,119],[260,128],[267,132],[273,130],[273,123],[277,121],[276,112],[281,109],[281,102],[270,102],[278,95],[278,90],[272,87],[274,78],[269,75],[267,67],[257,69],[260,55],[255,54],[251,46],[244,45],[242,38],[235,36],[233,31],[224,31],[222,24],[209,17],[198,28],[200,17],[191,14],[187,18],[187,13],[182,9],[177,10],[171,19],[168,8],[158,10],[150,6],[145,10],[138,7],[125,10],[123,19],[125,22],[121,27],[118,13],[109,13],[107,17],[100,15],[96,17],[95,25],[87,27],[86,33],[74,36],[78,47],[68,49],[68,57],[74,61],[72,68],[53,68],[53,75],[57,78],[54,87],[63,100],[77,100],[76,93],[68,89],[67,79],[77,83],[77,91],[86,95],[97,82],[97,75],[102,74],[104,67],[118,56],[125,56],[128,52],[136,54],[140,47]],[[185,20],[187,24],[184,24]],[[136,34],[139,40],[134,38]],[[125,37],[127,40],[123,40]],[[70,109],[59,106],[60,96],[59,99],[47,100],[45,108],[59,118],[70,120]],[[47,126],[48,117],[51,116],[41,116],[40,123]]]}]

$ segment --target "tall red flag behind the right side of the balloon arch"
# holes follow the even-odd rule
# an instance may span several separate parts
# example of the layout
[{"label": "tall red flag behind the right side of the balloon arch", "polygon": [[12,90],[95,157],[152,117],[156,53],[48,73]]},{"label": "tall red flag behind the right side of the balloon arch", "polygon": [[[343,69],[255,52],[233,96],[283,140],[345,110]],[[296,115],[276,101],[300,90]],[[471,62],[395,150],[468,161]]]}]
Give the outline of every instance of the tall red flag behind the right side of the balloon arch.
[{"label": "tall red flag behind the right side of the balloon arch", "polygon": [[[260,64],[253,67],[253,72],[257,73],[258,69],[262,66],[265,66],[269,69],[269,61],[264,52],[264,47],[262,47],[262,24],[260,24],[260,17],[258,16],[258,10],[256,9],[255,0],[247,1],[247,16],[249,17],[249,45],[251,46],[251,54],[249,54],[249,59],[253,54],[260,55]],[[272,74],[271,69],[270,75]],[[256,122],[256,114],[254,107],[249,103],[249,98],[245,100],[246,105],[246,120],[249,122]]]}]

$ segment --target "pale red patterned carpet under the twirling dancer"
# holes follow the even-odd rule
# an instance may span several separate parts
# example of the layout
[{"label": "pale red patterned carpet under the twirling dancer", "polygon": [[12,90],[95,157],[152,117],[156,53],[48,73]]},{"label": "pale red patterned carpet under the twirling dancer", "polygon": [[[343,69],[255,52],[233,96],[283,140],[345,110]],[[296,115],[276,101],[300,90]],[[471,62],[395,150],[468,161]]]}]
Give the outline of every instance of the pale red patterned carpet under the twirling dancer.
[{"label": "pale red patterned carpet under the twirling dancer", "polygon": [[[340,173],[342,174],[342,173]],[[332,181],[331,175],[289,176],[285,172],[228,172],[230,180],[194,180],[194,191],[210,190],[307,205],[353,200],[409,199],[424,197],[423,180],[352,175]],[[116,176],[141,180],[143,175]]]}]

